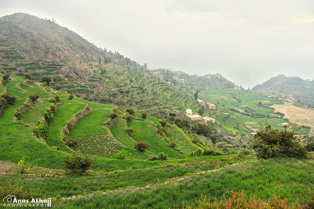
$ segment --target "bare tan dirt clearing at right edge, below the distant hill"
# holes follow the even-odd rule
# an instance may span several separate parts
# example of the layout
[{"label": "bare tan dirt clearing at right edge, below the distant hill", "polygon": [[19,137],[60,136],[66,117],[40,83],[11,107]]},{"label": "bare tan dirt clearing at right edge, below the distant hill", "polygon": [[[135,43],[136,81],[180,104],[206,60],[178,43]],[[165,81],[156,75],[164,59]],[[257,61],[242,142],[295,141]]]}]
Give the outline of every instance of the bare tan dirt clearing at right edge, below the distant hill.
[{"label": "bare tan dirt clearing at right edge, below the distant hill", "polygon": [[276,112],[284,113],[284,118],[289,119],[292,123],[305,125],[314,130],[314,110],[296,107],[291,103],[284,103],[283,105],[273,105]]}]

